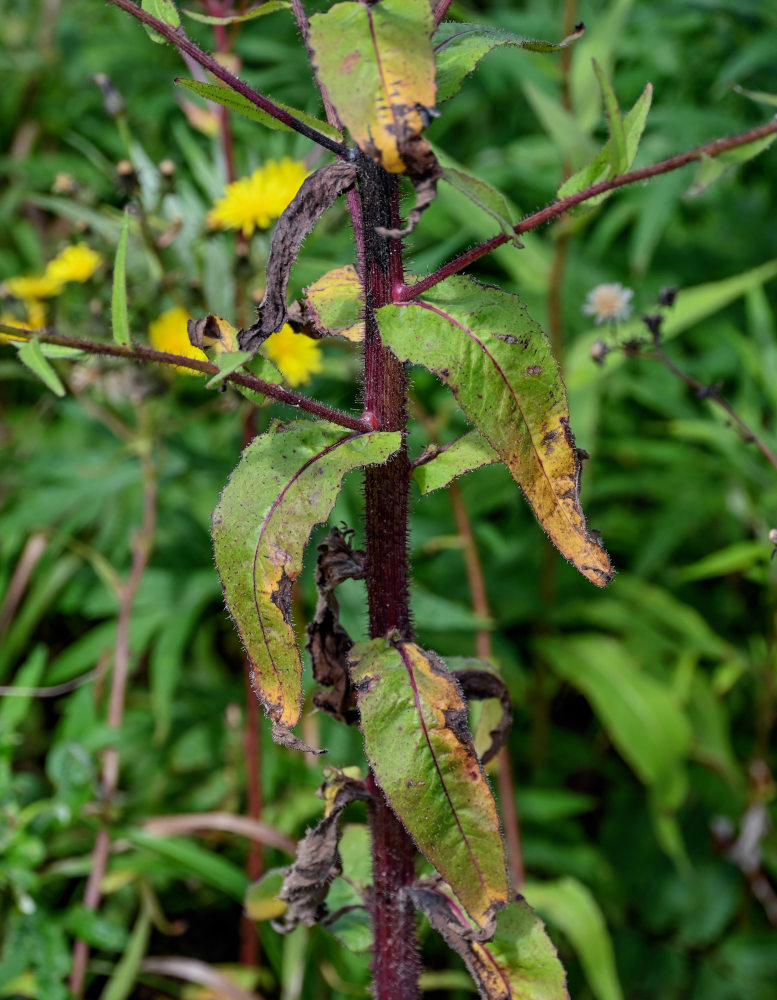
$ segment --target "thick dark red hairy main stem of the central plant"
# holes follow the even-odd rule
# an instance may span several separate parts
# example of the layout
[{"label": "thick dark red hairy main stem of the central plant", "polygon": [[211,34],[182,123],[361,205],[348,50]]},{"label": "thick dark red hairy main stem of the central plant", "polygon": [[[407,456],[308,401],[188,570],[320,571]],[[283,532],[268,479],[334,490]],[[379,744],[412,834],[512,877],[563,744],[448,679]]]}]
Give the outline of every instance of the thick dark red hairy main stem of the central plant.
[{"label": "thick dark red hairy main stem of the central plant", "polygon": [[[364,405],[381,430],[405,430],[404,368],[381,343],[375,310],[391,301],[402,282],[402,249],[398,240],[379,236],[376,227],[399,228],[397,179],[360,155],[362,281],[365,293]],[[385,465],[365,472],[365,534],[370,636],[397,630],[411,635],[408,589],[407,448]],[[373,845],[373,976],[376,1000],[416,1000],[420,962],[412,903],[403,888],[414,878],[415,847],[396,818],[372,774],[370,830]]]}]

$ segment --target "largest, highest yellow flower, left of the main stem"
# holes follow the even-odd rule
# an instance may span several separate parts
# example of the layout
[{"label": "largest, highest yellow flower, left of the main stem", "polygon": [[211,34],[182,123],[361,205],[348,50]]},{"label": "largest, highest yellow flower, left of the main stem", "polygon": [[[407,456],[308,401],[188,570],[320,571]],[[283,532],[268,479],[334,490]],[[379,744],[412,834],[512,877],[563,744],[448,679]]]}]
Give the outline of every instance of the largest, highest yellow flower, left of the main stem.
[{"label": "largest, highest yellow flower, left of the main stem", "polygon": [[267,229],[299,191],[308,175],[305,164],[284,156],[268,160],[249,177],[227,184],[208,213],[212,229],[240,229],[246,238],[255,229]]}]

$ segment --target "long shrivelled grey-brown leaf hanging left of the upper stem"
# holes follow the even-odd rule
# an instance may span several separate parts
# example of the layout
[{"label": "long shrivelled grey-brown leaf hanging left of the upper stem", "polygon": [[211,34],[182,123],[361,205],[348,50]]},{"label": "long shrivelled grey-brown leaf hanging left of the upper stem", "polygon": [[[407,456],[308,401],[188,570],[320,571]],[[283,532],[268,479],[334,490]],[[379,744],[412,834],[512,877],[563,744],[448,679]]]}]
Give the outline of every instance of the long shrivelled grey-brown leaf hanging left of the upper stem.
[{"label": "long shrivelled grey-brown leaf hanging left of the upper stem", "polygon": [[270,240],[264,298],[257,310],[258,319],[238,334],[244,351],[255,351],[286,322],[286,288],[289,272],[297,259],[302,241],[335,199],[347,191],[356,179],[351,163],[338,161],[319,167],[307,177],[291,204],[278,219]]}]

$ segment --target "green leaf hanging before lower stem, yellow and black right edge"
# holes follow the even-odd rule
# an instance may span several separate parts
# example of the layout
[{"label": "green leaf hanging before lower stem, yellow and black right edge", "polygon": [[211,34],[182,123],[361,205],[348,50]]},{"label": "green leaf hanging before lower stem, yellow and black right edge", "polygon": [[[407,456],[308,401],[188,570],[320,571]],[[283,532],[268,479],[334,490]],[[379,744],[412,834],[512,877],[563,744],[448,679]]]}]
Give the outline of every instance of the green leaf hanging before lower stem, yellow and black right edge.
[{"label": "green leaf hanging before lower stem, yellow and black right edge", "polygon": [[487,926],[507,902],[504,846],[455,679],[412,642],[356,643],[349,662],[375,780],[470,917]]}]

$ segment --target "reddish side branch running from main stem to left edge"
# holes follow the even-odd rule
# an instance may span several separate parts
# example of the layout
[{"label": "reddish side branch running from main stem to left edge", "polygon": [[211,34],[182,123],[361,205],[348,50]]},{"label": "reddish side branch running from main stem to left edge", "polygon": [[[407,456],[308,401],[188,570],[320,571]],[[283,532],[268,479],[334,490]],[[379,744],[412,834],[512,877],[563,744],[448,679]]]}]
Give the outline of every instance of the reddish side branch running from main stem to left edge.
[{"label": "reddish side branch running from main stem to left edge", "polygon": [[[153,361],[164,365],[175,365],[180,368],[191,368],[192,371],[201,372],[203,375],[218,375],[219,368],[210,361],[200,361],[198,358],[185,358],[179,354],[169,354],[166,351],[155,351],[151,347],[144,347],[141,344],[133,344],[131,347],[123,347],[121,344],[109,344],[96,340],[88,340],[85,337],[65,337],[59,333],[50,333],[48,330],[35,330],[26,336],[26,332],[19,327],[9,326],[7,323],[0,323],[0,333],[10,335],[15,339],[36,339],[43,344],[58,344],[62,347],[72,347],[79,351],[86,351],[89,354],[101,354],[112,358],[127,358],[132,361]],[[291,392],[283,386],[274,382],[265,382],[255,375],[244,372],[230,372],[225,377],[226,382],[233,382],[235,385],[242,385],[245,389],[260,392],[264,396],[277,400],[279,403],[286,403],[294,406],[298,410],[305,410],[313,416],[321,417],[339,427],[345,427],[360,434],[368,434],[375,428],[361,417],[352,417],[342,410],[337,410],[332,406],[326,406],[315,399],[308,399],[298,392]]]}]

